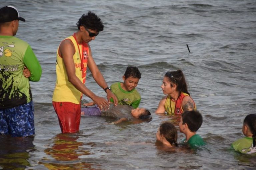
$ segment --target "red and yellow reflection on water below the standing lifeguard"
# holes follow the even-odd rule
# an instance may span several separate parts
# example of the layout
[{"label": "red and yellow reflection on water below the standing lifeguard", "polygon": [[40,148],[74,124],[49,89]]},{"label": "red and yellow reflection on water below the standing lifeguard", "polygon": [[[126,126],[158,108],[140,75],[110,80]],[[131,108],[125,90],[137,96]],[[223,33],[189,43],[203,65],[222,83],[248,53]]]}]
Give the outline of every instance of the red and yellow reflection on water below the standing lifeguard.
[{"label": "red and yellow reflection on water below the standing lifeguard", "polygon": [[[93,163],[84,162],[80,156],[93,154],[89,150],[82,148],[83,142],[78,142],[79,137],[75,134],[65,133],[57,134],[53,138],[53,145],[46,148],[44,152],[49,157],[42,158],[39,164],[43,164],[50,170],[57,169],[100,169],[95,168]],[[94,166],[94,167],[92,167]]]}]

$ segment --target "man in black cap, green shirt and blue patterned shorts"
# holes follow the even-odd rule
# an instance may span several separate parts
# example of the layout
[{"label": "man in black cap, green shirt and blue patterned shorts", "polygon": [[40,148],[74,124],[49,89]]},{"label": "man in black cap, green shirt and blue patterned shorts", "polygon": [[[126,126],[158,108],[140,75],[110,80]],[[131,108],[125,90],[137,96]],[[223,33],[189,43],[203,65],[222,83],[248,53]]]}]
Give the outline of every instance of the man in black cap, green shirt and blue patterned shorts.
[{"label": "man in black cap, green shirt and blue patterned shorts", "polygon": [[[39,81],[42,69],[27,42],[14,37],[19,16],[13,6],[0,9],[0,134],[14,137],[35,134],[30,81]],[[23,76],[27,67],[31,76]]]}]

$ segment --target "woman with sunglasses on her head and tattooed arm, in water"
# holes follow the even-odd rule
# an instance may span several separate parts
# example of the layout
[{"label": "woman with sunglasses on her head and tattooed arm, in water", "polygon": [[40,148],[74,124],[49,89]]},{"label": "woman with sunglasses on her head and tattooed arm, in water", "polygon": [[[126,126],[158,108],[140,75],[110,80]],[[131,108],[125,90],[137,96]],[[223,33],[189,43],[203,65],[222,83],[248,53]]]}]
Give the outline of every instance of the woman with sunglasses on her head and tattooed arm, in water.
[{"label": "woman with sunglasses on her head and tattooed arm, in water", "polygon": [[163,78],[161,88],[166,96],[160,100],[156,113],[179,115],[184,111],[196,110],[196,104],[190,97],[181,70],[168,71]]}]

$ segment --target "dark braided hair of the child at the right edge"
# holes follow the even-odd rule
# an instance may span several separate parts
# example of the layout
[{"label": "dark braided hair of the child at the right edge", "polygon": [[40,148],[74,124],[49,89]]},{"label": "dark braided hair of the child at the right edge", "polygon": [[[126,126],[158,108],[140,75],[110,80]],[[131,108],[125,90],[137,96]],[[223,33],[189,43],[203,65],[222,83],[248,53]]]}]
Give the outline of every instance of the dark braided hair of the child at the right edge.
[{"label": "dark braided hair of the child at the right edge", "polygon": [[256,137],[256,114],[249,114],[244,118],[244,124],[247,125],[251,131],[253,147],[256,145],[255,137]]}]

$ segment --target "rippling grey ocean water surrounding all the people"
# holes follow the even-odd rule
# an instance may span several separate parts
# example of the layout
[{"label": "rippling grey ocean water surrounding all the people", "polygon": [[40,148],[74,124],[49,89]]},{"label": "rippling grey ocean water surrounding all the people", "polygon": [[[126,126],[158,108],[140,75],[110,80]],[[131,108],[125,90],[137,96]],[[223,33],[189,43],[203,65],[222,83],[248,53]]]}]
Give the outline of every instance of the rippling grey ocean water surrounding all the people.
[{"label": "rippling grey ocean water surrounding all the people", "polygon": [[[36,134],[0,135],[0,169],[256,168],[255,157],[230,149],[243,137],[245,116],[256,109],[255,0],[1,0],[5,5],[14,5],[26,19],[16,36],[31,45],[43,74],[39,82],[31,82]],[[56,50],[88,11],[104,23],[90,46],[106,82],[122,81],[126,67],[137,66],[142,73],[140,107],[151,111],[151,122],[109,125],[113,120],[83,117],[79,133],[61,134],[51,104]],[[207,146],[196,152],[169,152],[155,145],[162,122],[172,121],[178,128],[177,117],[154,114],[164,96],[164,74],[177,69],[185,74],[203,116],[197,133]],[[106,97],[90,72],[86,86]],[[183,138],[179,132],[178,141]]]}]

